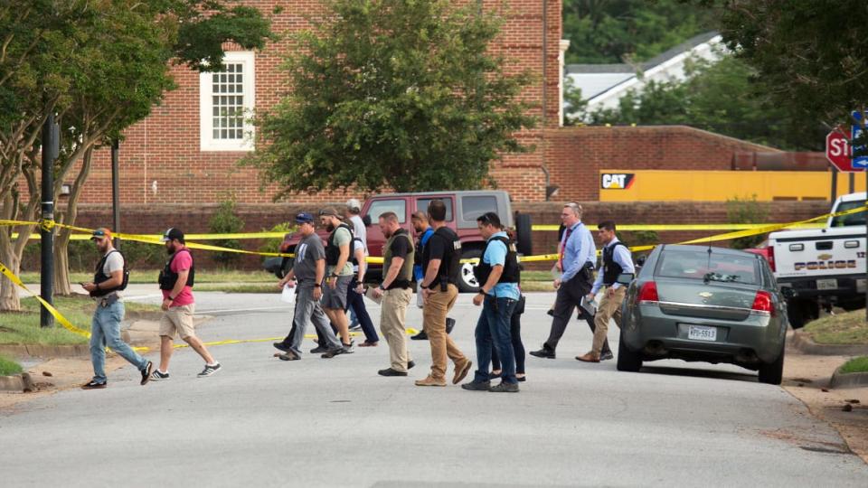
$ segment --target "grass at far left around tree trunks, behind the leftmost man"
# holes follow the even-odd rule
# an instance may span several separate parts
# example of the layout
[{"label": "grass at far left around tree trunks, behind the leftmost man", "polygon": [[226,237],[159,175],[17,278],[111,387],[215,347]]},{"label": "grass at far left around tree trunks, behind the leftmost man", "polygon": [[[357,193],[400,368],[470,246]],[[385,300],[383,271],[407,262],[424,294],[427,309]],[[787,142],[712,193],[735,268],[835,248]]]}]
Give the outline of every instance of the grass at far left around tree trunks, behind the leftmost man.
[{"label": "grass at far left around tree trunks, behind the leftmost man", "polygon": [[[42,305],[35,298],[21,300],[21,312],[4,312],[0,314],[0,344],[42,344],[67,345],[85,344],[88,339],[77,333],[71,333],[55,321],[51,328],[42,329],[39,326],[39,309]],[[125,303],[127,312],[156,312],[157,305]],[[90,317],[96,307],[96,302],[86,296],[55,296],[56,308],[71,324],[90,331]]]}]

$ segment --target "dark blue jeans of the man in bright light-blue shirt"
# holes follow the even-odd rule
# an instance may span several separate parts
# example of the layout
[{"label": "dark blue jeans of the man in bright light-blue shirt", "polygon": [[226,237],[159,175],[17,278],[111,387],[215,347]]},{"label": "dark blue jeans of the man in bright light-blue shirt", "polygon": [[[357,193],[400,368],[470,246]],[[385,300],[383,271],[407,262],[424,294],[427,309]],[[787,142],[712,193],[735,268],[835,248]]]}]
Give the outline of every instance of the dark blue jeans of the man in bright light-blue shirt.
[{"label": "dark blue jeans of the man in bright light-blue shirt", "polygon": [[496,348],[503,372],[500,377],[505,383],[517,383],[515,379],[515,354],[509,332],[515,304],[512,298],[495,298],[486,295],[482,303],[482,314],[476,322],[476,365],[474,381],[488,381],[488,365],[491,363],[491,350]]}]

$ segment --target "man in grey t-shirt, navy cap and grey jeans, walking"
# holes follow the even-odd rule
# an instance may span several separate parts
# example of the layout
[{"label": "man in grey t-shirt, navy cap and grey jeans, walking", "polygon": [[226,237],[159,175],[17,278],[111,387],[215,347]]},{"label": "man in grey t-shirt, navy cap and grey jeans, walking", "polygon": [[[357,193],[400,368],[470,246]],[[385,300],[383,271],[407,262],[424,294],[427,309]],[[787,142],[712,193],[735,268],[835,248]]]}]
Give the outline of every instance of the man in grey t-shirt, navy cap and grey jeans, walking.
[{"label": "man in grey t-shirt, navy cap and grey jeans, walking", "polygon": [[[282,354],[278,358],[283,361],[296,361],[301,359],[301,341],[305,337],[307,324],[314,323],[316,332],[325,339],[325,344],[320,347],[325,352],[322,357],[332,358],[337,351],[343,351],[344,347],[335,336],[328,318],[325,317],[323,308],[319,305],[319,299],[323,296],[323,278],[325,277],[325,248],[322,239],[314,232],[314,216],[309,213],[299,213],[296,216],[298,232],[301,234],[301,242],[296,248],[296,262],[287,276],[278,282],[278,288],[295,286],[293,278],[297,278],[296,310],[292,319],[292,329],[287,337],[274,343],[274,347]],[[316,351],[316,350],[315,350]]]}]

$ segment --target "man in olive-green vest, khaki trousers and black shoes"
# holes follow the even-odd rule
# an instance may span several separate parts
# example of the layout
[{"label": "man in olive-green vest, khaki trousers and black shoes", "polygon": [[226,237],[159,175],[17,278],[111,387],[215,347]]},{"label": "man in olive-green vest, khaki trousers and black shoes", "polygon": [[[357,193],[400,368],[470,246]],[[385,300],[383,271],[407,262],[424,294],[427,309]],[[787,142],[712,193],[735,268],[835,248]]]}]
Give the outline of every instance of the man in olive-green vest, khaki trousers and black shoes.
[{"label": "man in olive-green vest, khaki trousers and black shoes", "polygon": [[380,332],[389,344],[391,365],[377,371],[381,376],[407,376],[413,367],[407,352],[407,336],[404,321],[407,306],[413,296],[413,239],[407,230],[401,229],[398,215],[387,211],[380,215],[380,230],[387,239],[382,248],[382,284],[373,290],[376,297],[382,296]]}]

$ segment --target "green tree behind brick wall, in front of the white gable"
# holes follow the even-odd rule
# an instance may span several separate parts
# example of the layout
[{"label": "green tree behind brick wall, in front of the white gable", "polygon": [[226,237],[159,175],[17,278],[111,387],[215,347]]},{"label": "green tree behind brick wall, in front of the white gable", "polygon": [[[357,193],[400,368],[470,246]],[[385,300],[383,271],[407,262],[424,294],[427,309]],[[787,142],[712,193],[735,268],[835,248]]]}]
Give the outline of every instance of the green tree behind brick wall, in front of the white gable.
[{"label": "green tree behind brick wall, in front of the white gable", "polygon": [[821,150],[825,129],[772,102],[757,71],[733,56],[690,61],[683,81],[649,81],[616,109],[580,114],[590,124],[685,125],[791,150]]}]

